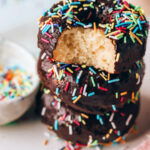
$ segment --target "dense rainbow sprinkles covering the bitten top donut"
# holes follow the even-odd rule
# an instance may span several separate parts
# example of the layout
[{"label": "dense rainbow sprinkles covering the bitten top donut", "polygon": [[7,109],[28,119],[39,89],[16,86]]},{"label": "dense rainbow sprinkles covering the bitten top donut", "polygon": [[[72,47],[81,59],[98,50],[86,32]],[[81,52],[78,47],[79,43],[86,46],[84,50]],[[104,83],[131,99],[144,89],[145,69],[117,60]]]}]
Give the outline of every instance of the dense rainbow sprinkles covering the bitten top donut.
[{"label": "dense rainbow sprinkles covering the bitten top donut", "polygon": [[[105,20],[108,18],[105,23],[100,18],[97,19],[96,22],[86,23],[77,17],[77,15],[80,15],[82,12],[87,11],[88,20],[93,10],[98,9],[99,12],[103,12],[105,7],[107,7],[107,5],[102,2],[99,3],[98,8],[95,7],[95,4],[97,4],[95,0],[64,0],[63,4],[59,3],[54,9],[44,12],[43,16],[40,17],[39,27],[42,34],[52,38],[48,31],[53,33],[56,29],[59,29],[60,33],[62,33],[63,30],[65,30],[64,27],[53,21],[53,19],[62,19],[65,20],[68,29],[81,26],[83,28],[93,28],[96,33],[98,28],[103,28],[108,38],[114,40],[123,39],[125,44],[129,41],[128,39],[133,43],[137,41],[139,44],[143,44],[140,39],[142,37],[141,33],[145,33],[146,36],[148,35],[146,28],[149,26],[149,23],[140,6],[136,7],[127,1],[113,0],[110,8],[105,12],[105,14],[107,14],[107,17],[104,16]],[[44,19],[45,21],[43,21],[44,17],[47,17],[46,20]],[[131,32],[136,34],[136,36],[133,36]],[[44,38],[41,40],[47,44],[50,43],[50,40]]]}]

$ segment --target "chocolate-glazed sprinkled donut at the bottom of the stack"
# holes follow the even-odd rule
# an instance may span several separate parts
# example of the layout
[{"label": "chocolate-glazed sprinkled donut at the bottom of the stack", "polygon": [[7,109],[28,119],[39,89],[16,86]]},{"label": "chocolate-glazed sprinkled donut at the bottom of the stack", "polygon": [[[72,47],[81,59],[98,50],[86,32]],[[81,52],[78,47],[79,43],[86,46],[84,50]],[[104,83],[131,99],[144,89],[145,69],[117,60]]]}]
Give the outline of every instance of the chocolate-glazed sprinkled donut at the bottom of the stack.
[{"label": "chocolate-glazed sprinkled donut at the bottom of the stack", "polygon": [[47,92],[41,96],[42,121],[60,138],[74,144],[94,145],[117,142],[134,125],[140,98],[106,114],[91,115],[76,111]]}]

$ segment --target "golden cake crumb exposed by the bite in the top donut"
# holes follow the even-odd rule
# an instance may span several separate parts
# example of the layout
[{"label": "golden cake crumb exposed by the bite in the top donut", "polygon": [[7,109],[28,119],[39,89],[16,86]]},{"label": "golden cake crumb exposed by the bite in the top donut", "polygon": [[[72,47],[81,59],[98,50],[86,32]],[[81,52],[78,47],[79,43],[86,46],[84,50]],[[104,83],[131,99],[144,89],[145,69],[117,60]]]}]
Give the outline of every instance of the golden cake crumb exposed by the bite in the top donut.
[{"label": "golden cake crumb exposed by the bite in the top donut", "polygon": [[101,29],[96,33],[80,27],[64,31],[53,54],[56,61],[86,64],[109,73],[115,70],[115,43]]}]

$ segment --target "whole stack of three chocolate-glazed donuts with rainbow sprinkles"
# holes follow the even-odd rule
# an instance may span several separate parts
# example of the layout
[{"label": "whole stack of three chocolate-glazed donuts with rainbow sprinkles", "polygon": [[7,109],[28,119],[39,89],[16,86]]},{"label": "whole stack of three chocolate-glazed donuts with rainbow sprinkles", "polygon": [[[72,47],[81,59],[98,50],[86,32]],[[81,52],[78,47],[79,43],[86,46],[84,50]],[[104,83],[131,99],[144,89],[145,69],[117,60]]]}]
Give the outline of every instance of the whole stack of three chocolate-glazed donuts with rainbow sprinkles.
[{"label": "whole stack of three chocolate-glazed donuts with rainbow sprinkles", "polygon": [[39,19],[41,117],[84,146],[119,142],[140,107],[148,22],[123,0],[63,0]]}]

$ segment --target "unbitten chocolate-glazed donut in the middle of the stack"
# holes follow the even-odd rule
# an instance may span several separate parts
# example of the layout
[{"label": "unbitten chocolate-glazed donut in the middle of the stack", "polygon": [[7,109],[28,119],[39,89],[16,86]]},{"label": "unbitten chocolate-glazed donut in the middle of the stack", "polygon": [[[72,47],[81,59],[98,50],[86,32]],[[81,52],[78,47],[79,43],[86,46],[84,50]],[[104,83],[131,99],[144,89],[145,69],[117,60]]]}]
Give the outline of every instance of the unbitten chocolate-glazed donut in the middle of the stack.
[{"label": "unbitten chocolate-glazed donut in the middle of the stack", "polygon": [[72,108],[89,114],[115,110],[128,99],[135,101],[144,70],[143,61],[137,61],[129,71],[120,74],[109,74],[85,65],[58,63],[49,57],[40,57],[38,62],[44,86]]}]

